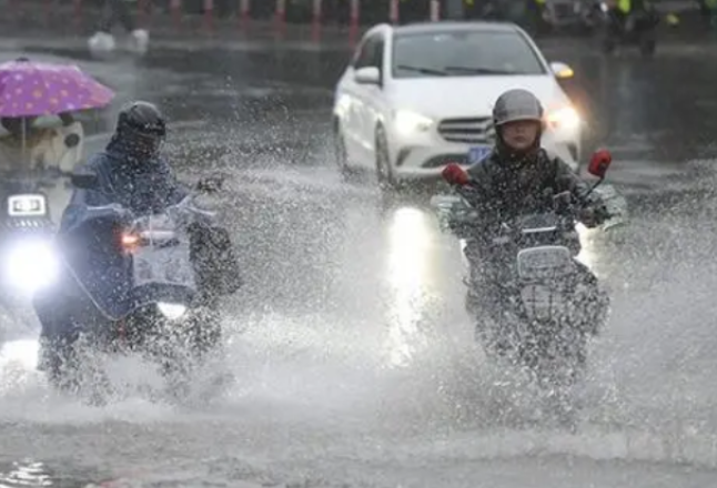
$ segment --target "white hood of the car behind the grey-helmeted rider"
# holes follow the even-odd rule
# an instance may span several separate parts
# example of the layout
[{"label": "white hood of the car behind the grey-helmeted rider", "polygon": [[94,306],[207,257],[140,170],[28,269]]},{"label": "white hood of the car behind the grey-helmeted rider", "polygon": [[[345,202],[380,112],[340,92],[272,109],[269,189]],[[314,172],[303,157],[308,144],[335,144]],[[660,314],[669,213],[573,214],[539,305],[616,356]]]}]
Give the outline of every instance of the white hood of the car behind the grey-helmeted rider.
[{"label": "white hood of the car behind the grey-helmeted rider", "polygon": [[434,119],[489,116],[498,96],[515,88],[533,92],[545,110],[568,103],[555,78],[545,74],[394,80],[390,96],[392,106]]}]

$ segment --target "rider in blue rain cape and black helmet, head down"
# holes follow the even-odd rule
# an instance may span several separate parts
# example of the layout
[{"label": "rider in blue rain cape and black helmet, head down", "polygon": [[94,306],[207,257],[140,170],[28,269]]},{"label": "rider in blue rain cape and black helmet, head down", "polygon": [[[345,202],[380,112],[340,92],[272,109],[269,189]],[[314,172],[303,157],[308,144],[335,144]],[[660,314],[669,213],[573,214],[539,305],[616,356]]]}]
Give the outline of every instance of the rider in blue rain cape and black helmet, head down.
[{"label": "rider in blue rain cape and black helmet, head down", "polygon": [[[83,273],[105,275],[113,270],[113,243],[108,242],[111,228],[101,223],[92,235],[78,237],[71,231],[83,222],[88,206],[119,204],[139,214],[162,212],[184,199],[189,191],[175,179],[169,164],[160,155],[166,135],[166,125],[160,111],[151,103],[134,102],[118,118],[112,140],[104,152],[92,157],[80,173],[97,176],[93,189],[77,189],[64,211],[58,242],[69,262],[78,263]],[[73,242],[71,236],[82,240]],[[193,236],[195,266],[200,282],[211,301],[216,295],[235,292],[240,286],[236,261],[229,234],[221,227],[201,227]],[[67,277],[65,277],[67,279]],[[34,298],[34,308],[42,324],[42,340],[77,339],[71,313],[63,313],[71,299],[55,287]],[[210,302],[211,303],[211,302]]]}]

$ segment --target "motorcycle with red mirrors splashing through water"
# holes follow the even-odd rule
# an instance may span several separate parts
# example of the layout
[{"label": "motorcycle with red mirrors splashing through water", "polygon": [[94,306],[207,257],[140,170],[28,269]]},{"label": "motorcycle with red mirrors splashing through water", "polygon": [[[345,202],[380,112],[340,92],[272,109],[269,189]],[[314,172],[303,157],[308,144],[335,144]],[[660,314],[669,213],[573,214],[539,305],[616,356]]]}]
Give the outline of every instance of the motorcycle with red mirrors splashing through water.
[{"label": "motorcycle with red mirrors splashing through water", "polygon": [[[609,153],[602,151],[589,164],[589,172],[599,177],[592,191],[605,202],[604,228],[626,222],[624,199],[612,186],[598,189],[610,162]],[[489,294],[499,312],[493,314],[489,326],[476,326],[486,355],[512,358],[542,386],[572,386],[585,366],[587,339],[606,319],[609,304],[595,275],[576,260],[580,242],[575,222],[580,206],[569,192],[561,193],[553,196],[551,211],[521,215],[503,222],[495,235],[476,236],[471,223],[479,215],[468,203],[475,190],[467,173],[454,164],[443,175],[455,193],[434,196],[432,205],[442,227],[463,241],[464,263],[469,261],[465,255],[469,241],[487,238],[487,256],[482,257],[489,264],[481,270],[479,279],[487,286],[468,291],[468,296]],[[467,285],[473,283],[469,279]]]}]

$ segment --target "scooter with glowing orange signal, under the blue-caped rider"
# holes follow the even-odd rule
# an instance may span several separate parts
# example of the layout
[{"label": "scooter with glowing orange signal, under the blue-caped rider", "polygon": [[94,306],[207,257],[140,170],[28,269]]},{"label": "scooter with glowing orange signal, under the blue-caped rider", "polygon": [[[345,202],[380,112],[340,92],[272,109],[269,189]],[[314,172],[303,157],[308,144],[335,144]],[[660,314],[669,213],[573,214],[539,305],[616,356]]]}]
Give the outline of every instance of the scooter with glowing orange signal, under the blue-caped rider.
[{"label": "scooter with glowing orange signal, under the blue-caped rider", "polygon": [[[93,174],[73,174],[71,182],[87,190],[98,185]],[[60,234],[60,284],[34,299],[49,331],[41,339],[41,369],[57,387],[81,388],[84,366],[101,376],[81,346],[139,353],[165,377],[185,383],[194,366],[219,352],[218,297],[240,282],[229,235],[215,226],[214,212],[195,205],[198,194],[216,184],[202,181],[196,190],[160,212],[88,206]]]}]

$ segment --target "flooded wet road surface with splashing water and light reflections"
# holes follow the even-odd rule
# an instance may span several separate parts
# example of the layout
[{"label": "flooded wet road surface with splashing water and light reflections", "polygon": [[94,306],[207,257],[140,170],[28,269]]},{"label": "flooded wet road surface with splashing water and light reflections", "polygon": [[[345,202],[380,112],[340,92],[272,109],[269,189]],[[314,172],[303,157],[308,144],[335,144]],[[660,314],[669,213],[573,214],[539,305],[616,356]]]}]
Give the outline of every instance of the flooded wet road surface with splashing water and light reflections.
[{"label": "flooded wet road surface with splashing water and light reflections", "polygon": [[[426,199],[386,204],[371,175],[340,179],[331,89],[347,52],[31,53],[73,59],[118,90],[117,104],[161,103],[183,177],[229,175],[222,209],[246,286],[223,304],[235,385],[208,399],[200,378],[182,406],[139,393],[152,374],[133,360],[117,365],[122,395],[107,407],[57,396],[32,370],[36,324],[7,317],[0,486],[717,482],[717,64],[704,55],[546,49],[575,68],[588,145],[614,151],[608,179],[633,214],[628,228],[584,236],[614,306],[569,433],[473,344],[457,243]],[[93,144],[117,104],[94,119]]]}]

